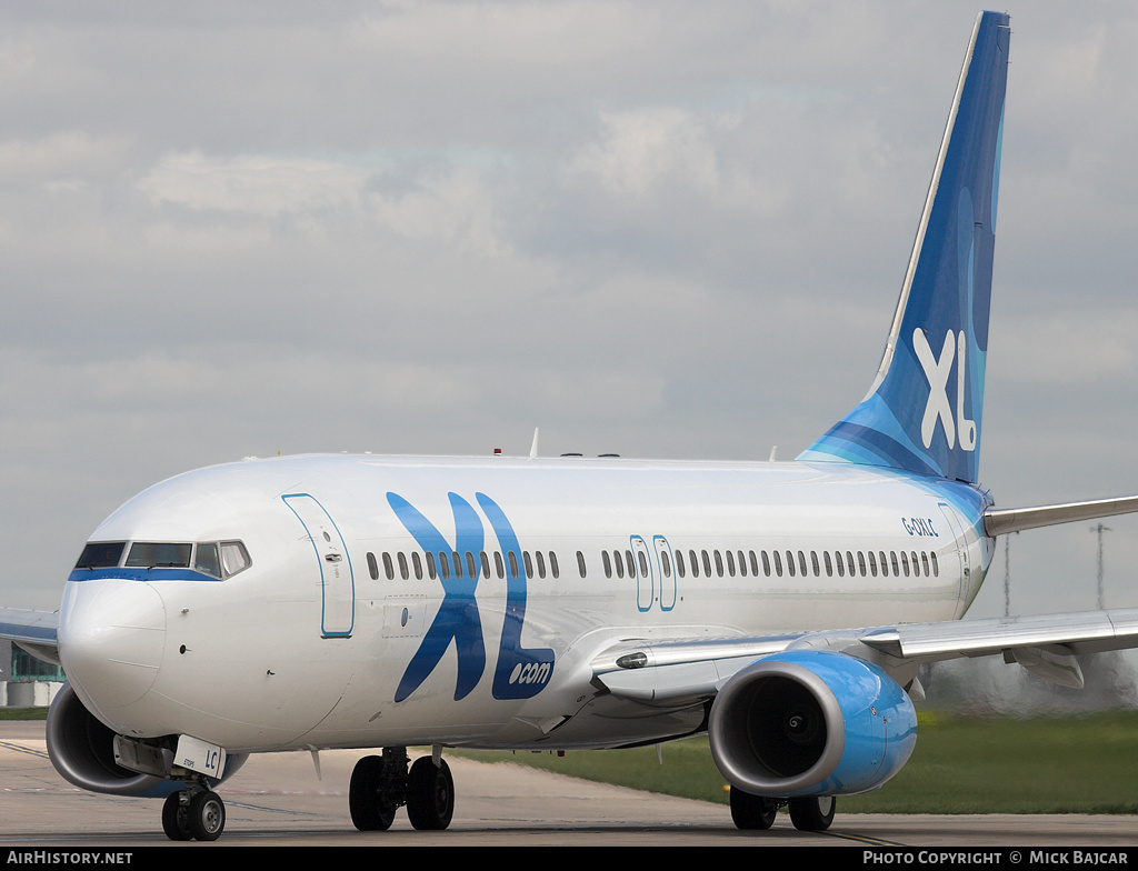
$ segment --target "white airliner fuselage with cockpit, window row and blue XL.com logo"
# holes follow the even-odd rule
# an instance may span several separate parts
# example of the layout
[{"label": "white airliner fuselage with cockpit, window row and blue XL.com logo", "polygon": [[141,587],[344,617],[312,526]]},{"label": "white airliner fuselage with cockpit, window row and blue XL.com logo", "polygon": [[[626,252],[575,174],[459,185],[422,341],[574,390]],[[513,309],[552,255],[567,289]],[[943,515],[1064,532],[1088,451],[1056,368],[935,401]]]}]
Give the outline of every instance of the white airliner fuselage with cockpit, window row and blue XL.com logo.
[{"label": "white airliner fuselage with cockpit, window row and blue XL.com logo", "polygon": [[117,562],[72,573],[59,649],[126,736],[619,745],[687,725],[596,707],[603,650],[959,617],[986,504],[839,463],[250,459],[108,517]]}]

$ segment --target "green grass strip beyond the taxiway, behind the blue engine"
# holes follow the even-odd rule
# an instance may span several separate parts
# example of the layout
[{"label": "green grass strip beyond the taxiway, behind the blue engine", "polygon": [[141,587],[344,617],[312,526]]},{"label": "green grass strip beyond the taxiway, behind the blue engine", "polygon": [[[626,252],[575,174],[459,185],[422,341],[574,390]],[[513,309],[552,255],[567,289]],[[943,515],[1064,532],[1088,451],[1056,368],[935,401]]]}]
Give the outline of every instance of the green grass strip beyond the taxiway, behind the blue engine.
[{"label": "green grass strip beyond the taxiway, behind the blue engine", "polygon": [[[706,737],[659,750],[462,755],[727,802]],[[1032,720],[922,712],[916,750],[901,772],[840,806],[846,813],[1138,813],[1138,712]]]}]

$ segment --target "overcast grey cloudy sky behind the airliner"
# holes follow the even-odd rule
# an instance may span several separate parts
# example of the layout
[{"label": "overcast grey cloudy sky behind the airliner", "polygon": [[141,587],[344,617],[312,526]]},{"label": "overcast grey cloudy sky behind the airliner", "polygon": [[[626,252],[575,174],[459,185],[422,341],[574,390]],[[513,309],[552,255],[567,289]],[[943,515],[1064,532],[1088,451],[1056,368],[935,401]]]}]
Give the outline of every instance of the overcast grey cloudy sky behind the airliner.
[{"label": "overcast grey cloudy sky behind the airliner", "polygon": [[[0,605],[249,455],[793,458],[872,380],[976,11],[0,6]],[[1138,492],[1138,8],[1011,11],[983,483]],[[1011,565],[1096,605],[1090,524]]]}]

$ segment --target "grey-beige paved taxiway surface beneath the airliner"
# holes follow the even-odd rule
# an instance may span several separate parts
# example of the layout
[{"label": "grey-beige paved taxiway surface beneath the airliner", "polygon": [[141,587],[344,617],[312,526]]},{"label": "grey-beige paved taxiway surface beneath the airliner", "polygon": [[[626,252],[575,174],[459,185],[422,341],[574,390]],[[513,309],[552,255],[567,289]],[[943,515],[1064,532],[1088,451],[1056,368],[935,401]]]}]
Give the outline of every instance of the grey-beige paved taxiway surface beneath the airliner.
[{"label": "grey-beige paved taxiway surface beneath the airliner", "polygon": [[[386,832],[358,832],[347,785],[365,750],[254,756],[218,790],[225,846],[894,846],[1082,847],[1138,845],[1138,818],[885,815],[839,813],[830,831],[800,832],[780,814],[772,830],[734,828],[726,805],[593,783],[504,762],[450,757],[457,801],[443,832],[415,831],[399,813]],[[504,756],[509,758],[509,756]],[[72,787],[51,768],[42,722],[0,722],[0,846],[206,846],[162,832],[162,802]]]}]

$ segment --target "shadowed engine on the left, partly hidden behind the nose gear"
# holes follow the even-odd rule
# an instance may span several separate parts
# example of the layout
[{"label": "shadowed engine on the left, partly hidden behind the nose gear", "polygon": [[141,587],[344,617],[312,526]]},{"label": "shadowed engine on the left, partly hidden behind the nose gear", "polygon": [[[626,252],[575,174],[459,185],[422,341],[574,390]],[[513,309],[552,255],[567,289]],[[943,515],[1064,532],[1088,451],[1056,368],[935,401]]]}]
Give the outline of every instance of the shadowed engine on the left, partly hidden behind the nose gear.
[{"label": "shadowed engine on the left, partly hidden behind the nose gear", "polygon": [[[80,702],[72,686],[56,694],[48,711],[48,756],[64,780],[92,793],[122,796],[165,796],[185,785],[130,771],[115,763],[115,732]],[[225,777],[236,772],[244,756],[228,756]],[[211,785],[220,781],[211,780]]]}]

